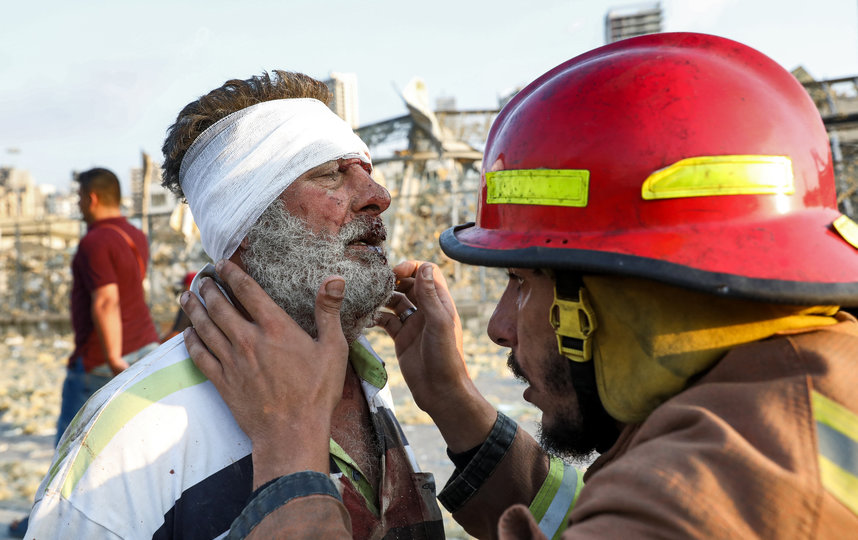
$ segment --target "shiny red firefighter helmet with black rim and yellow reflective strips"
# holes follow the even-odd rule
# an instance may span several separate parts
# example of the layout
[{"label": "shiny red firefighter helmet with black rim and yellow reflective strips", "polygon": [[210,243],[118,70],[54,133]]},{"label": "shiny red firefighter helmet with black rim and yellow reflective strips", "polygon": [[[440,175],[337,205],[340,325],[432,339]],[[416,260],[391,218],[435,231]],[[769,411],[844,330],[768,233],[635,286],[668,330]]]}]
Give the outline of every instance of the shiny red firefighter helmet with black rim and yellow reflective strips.
[{"label": "shiny red firefighter helmet with black rim and yellow reflective strips", "polygon": [[819,113],[770,58],[652,34],[573,58],[489,133],[476,223],[453,259],[858,304],[858,226],[837,211]]}]

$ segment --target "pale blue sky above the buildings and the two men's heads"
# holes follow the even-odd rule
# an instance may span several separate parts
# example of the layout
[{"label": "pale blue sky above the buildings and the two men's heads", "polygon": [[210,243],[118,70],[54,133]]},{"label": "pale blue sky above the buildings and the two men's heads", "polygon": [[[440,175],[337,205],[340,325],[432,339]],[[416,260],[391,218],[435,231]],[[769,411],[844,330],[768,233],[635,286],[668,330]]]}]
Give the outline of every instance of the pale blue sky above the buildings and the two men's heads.
[{"label": "pale blue sky above the buildings and the two men's heads", "polygon": [[[527,7],[523,7],[527,4]],[[362,124],[405,113],[395,88],[489,108],[603,44],[622,0],[5,1],[0,165],[69,188],[72,170],[161,159],[167,126],[230,78],[282,68],[358,76]],[[855,0],[664,0],[666,31],[718,34],[814,77],[858,75]],[[9,149],[18,149],[16,153]]]}]

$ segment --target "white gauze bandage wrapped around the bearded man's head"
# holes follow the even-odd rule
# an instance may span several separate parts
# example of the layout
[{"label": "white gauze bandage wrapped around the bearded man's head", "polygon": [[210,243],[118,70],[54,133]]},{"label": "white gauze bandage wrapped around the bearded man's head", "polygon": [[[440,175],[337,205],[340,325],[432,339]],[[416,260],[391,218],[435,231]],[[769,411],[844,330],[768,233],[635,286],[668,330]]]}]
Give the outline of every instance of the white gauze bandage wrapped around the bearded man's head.
[{"label": "white gauze bandage wrapped around the bearded man's head", "polygon": [[265,101],[209,126],[179,168],[203,249],[230,257],[289,184],[339,158],[370,163],[366,144],[316,99]]}]

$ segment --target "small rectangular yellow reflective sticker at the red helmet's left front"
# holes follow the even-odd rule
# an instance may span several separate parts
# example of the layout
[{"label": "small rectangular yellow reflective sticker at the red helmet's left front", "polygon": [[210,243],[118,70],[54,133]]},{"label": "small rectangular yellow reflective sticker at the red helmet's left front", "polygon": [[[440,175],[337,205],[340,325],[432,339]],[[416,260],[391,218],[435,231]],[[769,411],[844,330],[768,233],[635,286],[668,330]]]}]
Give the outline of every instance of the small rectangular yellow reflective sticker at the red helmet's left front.
[{"label": "small rectangular yellow reflective sticker at the red helmet's left front", "polygon": [[521,169],[486,173],[486,204],[587,206],[590,171]]}]

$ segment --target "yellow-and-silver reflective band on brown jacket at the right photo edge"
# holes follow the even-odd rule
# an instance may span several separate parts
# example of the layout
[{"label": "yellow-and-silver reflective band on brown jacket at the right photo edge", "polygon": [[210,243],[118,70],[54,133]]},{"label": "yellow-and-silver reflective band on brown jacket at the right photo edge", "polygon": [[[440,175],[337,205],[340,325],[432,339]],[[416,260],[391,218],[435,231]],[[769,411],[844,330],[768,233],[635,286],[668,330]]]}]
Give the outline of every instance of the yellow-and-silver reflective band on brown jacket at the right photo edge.
[{"label": "yellow-and-silver reflective band on brown jacket at the right photo edge", "polygon": [[858,415],[813,392],[822,485],[858,514]]}]

